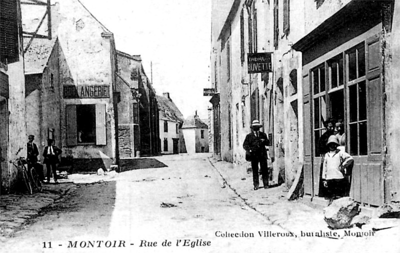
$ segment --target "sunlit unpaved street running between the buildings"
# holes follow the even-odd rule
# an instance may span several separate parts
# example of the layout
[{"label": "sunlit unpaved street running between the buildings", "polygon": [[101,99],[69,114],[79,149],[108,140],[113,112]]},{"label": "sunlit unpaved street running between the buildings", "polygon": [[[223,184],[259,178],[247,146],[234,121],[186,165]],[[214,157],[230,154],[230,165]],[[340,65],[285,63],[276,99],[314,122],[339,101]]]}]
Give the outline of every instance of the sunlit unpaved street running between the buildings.
[{"label": "sunlit unpaved street running between the buildings", "polygon": [[287,201],[283,186],[253,191],[245,168],[208,154],[156,159],[168,167],[70,175],[40,194],[1,196],[1,252],[397,252],[399,227],[301,237],[331,231],[322,211]]}]

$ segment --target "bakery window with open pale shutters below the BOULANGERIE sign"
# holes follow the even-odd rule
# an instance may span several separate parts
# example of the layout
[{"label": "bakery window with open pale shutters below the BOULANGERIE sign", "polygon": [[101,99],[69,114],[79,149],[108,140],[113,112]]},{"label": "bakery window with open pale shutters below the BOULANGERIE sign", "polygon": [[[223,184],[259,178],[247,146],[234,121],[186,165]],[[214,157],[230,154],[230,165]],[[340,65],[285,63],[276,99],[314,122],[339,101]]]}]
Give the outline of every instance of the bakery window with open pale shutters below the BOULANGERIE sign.
[{"label": "bakery window with open pale shutters below the BOULANGERIE sign", "polygon": [[105,104],[66,105],[67,145],[106,145]]}]

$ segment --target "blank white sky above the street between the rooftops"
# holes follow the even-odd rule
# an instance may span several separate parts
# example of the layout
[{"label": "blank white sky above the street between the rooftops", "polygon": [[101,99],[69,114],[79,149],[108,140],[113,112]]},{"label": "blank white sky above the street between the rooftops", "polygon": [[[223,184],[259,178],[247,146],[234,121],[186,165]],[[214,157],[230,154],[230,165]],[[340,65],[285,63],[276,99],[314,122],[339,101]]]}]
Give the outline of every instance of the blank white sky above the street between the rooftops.
[{"label": "blank white sky above the street between the rooftops", "polygon": [[117,50],[142,57],[157,95],[184,117],[207,118],[211,0],[80,0],[114,34]]}]

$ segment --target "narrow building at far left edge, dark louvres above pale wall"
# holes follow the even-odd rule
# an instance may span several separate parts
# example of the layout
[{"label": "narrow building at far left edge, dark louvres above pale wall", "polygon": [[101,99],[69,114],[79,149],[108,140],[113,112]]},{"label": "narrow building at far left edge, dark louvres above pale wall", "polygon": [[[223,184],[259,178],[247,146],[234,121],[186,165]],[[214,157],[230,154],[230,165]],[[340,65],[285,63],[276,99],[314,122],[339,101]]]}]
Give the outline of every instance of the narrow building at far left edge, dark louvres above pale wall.
[{"label": "narrow building at far left edge, dark louvres above pale wall", "polygon": [[0,193],[17,187],[8,161],[26,156],[25,79],[19,0],[0,0]]}]

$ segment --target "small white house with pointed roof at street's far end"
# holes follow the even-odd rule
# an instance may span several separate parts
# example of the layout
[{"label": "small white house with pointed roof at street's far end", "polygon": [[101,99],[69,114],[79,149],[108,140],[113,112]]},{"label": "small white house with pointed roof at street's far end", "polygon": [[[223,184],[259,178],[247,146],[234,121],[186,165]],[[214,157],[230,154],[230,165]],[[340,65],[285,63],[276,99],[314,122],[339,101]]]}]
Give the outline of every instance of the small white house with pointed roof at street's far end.
[{"label": "small white house with pointed roof at street's far end", "polygon": [[187,153],[208,152],[208,126],[198,118],[197,112],[184,120],[182,132]]}]

